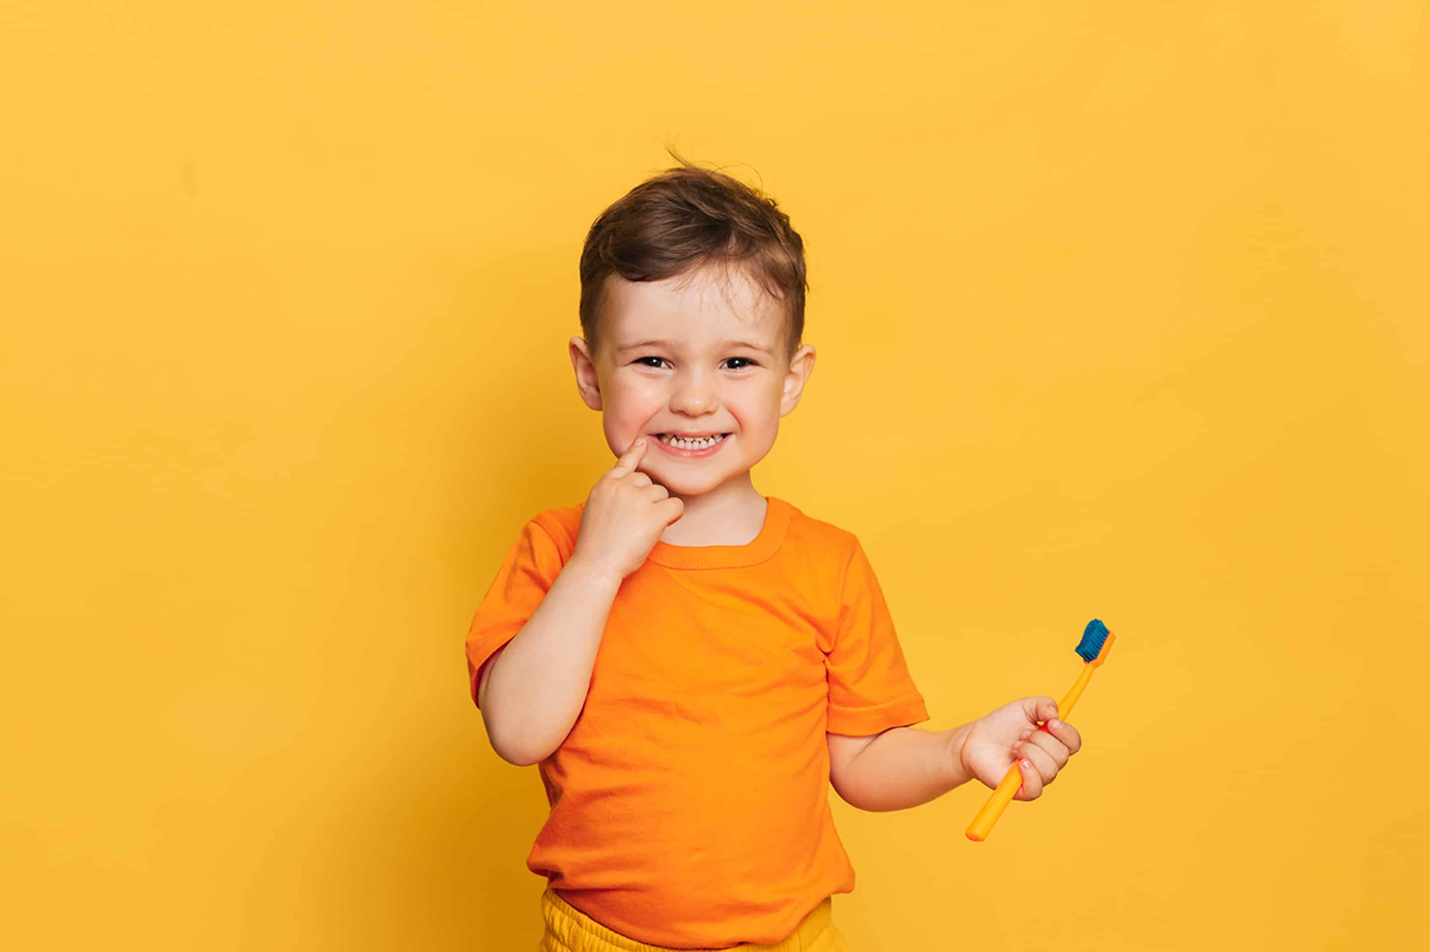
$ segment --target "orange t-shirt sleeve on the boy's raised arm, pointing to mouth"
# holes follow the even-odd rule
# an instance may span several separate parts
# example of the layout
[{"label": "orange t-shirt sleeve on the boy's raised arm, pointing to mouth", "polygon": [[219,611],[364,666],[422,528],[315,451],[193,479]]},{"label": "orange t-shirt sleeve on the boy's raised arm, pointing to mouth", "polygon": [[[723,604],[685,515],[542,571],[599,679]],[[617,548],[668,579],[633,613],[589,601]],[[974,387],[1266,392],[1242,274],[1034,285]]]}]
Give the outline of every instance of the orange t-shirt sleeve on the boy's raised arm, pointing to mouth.
[{"label": "orange t-shirt sleeve on the boy's raised arm, pointing to mouth", "polygon": [[472,688],[472,703],[478,703],[482,665],[506,642],[522,630],[522,625],[536,612],[556,576],[561,575],[561,550],[541,525],[532,519],[521,535],[486,589],[472,628],[466,635],[466,673]]}]

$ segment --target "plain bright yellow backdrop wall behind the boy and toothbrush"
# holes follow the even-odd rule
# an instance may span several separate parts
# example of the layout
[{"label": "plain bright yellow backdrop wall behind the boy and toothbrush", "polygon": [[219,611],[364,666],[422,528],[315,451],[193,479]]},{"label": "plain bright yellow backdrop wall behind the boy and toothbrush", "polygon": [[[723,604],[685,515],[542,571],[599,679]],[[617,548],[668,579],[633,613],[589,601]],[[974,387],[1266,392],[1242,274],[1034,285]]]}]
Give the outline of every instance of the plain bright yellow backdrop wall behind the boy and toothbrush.
[{"label": "plain bright yellow backdrop wall behind the boy and toothbrush", "polygon": [[1426,7],[9,3],[14,949],[526,949],[546,813],[462,642],[613,457],[576,257],[764,184],[818,363],[755,485],[855,532],[942,729],[832,796],[854,952],[1389,949],[1430,842]]}]

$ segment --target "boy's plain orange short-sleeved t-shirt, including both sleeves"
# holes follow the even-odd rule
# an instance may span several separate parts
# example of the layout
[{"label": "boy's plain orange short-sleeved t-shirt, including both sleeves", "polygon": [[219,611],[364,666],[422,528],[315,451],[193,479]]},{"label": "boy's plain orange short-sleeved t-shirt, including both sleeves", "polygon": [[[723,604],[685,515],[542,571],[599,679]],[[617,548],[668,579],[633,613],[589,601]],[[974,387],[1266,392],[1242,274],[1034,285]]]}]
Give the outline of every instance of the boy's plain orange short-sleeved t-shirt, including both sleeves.
[{"label": "boy's plain orange short-sleeved t-shirt, including both sleeves", "polygon": [[[538,766],[526,866],[576,909],[671,948],[774,943],[854,891],[825,730],[928,720],[854,533],[768,496],[742,546],[656,542],[611,606],[586,702]],[[522,527],[466,638],[482,663],[571,557],[585,503]]]}]

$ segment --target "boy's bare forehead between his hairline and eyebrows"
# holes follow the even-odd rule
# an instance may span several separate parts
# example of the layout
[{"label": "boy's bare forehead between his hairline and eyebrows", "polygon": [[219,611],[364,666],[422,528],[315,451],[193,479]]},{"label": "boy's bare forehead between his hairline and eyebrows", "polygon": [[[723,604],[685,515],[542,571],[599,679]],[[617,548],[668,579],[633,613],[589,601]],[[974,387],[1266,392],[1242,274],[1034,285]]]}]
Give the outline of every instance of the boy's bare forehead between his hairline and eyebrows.
[{"label": "boy's bare forehead between his hairline and eyebrows", "polygon": [[739,274],[676,276],[659,282],[611,277],[606,332],[616,347],[646,340],[702,346],[738,339],[774,349],[779,302]]}]

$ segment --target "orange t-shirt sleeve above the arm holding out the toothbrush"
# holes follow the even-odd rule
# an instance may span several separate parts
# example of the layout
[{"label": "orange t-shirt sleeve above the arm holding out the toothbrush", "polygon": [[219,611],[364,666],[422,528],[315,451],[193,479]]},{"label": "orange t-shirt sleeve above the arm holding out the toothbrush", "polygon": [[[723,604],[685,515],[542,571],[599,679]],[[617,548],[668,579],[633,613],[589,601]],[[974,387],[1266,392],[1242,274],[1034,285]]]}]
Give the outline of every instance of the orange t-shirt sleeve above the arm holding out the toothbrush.
[{"label": "orange t-shirt sleeve above the arm holding out the toothbrush", "polygon": [[839,620],[825,652],[831,733],[867,736],[928,720],[894,633],[884,592],[855,539],[839,595]]}]

